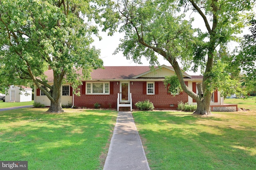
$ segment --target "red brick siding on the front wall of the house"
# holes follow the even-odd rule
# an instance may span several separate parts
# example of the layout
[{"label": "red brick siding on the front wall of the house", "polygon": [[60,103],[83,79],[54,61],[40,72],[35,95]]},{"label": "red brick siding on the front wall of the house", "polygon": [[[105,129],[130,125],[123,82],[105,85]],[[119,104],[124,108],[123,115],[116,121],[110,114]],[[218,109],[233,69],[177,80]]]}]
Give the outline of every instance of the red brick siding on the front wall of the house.
[{"label": "red brick siding on the front wall of the house", "polygon": [[[188,86],[188,82],[185,82]],[[109,95],[89,95],[82,94],[82,87],[80,86],[80,96],[74,95],[74,106],[76,107],[87,107],[93,108],[94,104],[97,102],[100,104],[101,108],[112,108],[117,107],[117,94],[120,92],[120,82],[110,82],[110,86],[113,85],[113,94]],[[135,103],[138,101],[150,100],[154,104],[155,108],[162,109],[175,109],[178,107],[178,103],[188,102],[188,95],[186,93],[178,94],[172,96],[167,94],[167,89],[164,87],[164,83],[158,82],[158,94],[147,95],[143,94],[143,82],[133,82],[130,83],[130,92],[132,93],[132,107],[135,107]],[[174,107],[170,107],[170,104],[174,104]]]}]

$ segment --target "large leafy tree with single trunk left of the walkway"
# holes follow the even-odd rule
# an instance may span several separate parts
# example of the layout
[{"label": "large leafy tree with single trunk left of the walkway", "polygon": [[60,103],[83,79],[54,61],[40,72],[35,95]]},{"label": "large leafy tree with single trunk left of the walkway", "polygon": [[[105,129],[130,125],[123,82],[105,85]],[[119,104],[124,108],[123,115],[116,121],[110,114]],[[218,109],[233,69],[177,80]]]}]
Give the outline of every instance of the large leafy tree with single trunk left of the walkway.
[{"label": "large leafy tree with single trunk left of the walkway", "polygon": [[[50,99],[48,111],[62,112],[62,82],[72,82],[76,89],[92,69],[102,67],[100,51],[90,46],[98,29],[89,23],[111,24],[116,20],[108,10],[112,5],[110,0],[1,0],[1,85],[34,83]],[[112,20],[104,19],[108,16]],[[114,28],[107,25],[106,30]],[[48,65],[53,86],[44,76]]]}]

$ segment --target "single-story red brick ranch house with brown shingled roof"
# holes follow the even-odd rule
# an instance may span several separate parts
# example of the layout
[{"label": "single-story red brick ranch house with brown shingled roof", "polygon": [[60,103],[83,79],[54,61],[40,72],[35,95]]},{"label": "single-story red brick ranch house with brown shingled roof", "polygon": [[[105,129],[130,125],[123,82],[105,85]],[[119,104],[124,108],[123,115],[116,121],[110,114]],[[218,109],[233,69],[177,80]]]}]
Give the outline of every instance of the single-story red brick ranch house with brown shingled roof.
[{"label": "single-story red brick ranch house with brown shingled roof", "polygon": [[[176,96],[168,93],[163,80],[165,76],[175,75],[171,66],[162,65],[155,67],[155,71],[148,66],[105,66],[105,69],[97,69],[91,72],[91,79],[82,81],[80,96],[72,94],[72,83],[62,85],[62,104],[76,107],[94,108],[94,104],[100,104],[101,108],[121,107],[136,108],[138,101],[150,100],[155,109],[176,109],[178,103],[196,102],[184,92],[177,92]],[[79,72],[82,74],[82,72]],[[53,84],[53,72],[47,70],[49,84]],[[186,72],[183,74],[188,88],[197,92],[196,82],[202,82],[202,76],[191,76]],[[34,102],[50,106],[50,100],[39,88],[35,87]],[[212,94],[211,107],[224,106],[224,99],[220,92]],[[231,108],[232,111],[236,111]],[[216,110],[215,110],[216,111]],[[220,110],[221,111],[221,110]]]}]

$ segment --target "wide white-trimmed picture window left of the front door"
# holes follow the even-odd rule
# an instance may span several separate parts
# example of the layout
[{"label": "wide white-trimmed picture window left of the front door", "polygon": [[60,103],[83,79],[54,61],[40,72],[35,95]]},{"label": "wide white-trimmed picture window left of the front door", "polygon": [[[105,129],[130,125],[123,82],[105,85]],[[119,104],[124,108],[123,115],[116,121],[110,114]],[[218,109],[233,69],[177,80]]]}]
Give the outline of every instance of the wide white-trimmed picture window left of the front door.
[{"label": "wide white-trimmed picture window left of the front door", "polygon": [[110,94],[109,82],[86,82],[86,94]]}]

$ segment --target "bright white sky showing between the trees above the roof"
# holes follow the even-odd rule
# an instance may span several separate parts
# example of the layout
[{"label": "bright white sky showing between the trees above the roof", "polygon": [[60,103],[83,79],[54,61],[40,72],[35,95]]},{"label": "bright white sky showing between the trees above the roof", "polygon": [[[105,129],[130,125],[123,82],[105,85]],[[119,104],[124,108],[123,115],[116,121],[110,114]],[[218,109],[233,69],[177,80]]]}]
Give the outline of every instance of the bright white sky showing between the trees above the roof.
[{"label": "bright white sky showing between the trees above the roof", "polygon": [[[254,11],[256,11],[256,10],[254,10]],[[190,14],[190,17],[194,17],[193,25],[196,25],[196,26],[194,26],[195,28],[201,27],[202,29],[205,29],[203,31],[206,31],[204,21],[202,20],[202,18],[200,16],[198,16],[198,14],[196,14],[194,12],[194,13]],[[244,32],[248,33],[248,30],[245,29]],[[103,60],[104,66],[149,66],[149,62],[146,61],[145,58],[144,59],[142,58],[142,60],[141,60],[142,64],[137,64],[137,63],[134,63],[131,59],[127,60],[126,57],[124,57],[122,55],[122,52],[119,52],[118,54],[113,55],[115,49],[120,44],[119,39],[124,36],[124,33],[116,32],[116,33],[114,33],[113,36],[108,36],[107,33],[100,32],[100,36],[102,37],[102,40],[99,41],[96,38],[92,45],[94,45],[96,47],[96,49],[100,49],[100,51],[101,51],[100,58]],[[237,43],[229,43],[228,47],[232,51],[232,49],[234,49],[237,45],[238,45]],[[171,64],[168,61],[166,61],[164,59],[164,57],[162,57],[161,55],[158,55],[158,62],[160,63],[160,65],[165,64],[167,66],[171,66]],[[190,75],[199,75],[200,74],[200,70],[196,73],[190,72],[190,71],[186,71],[186,72]]]}]

